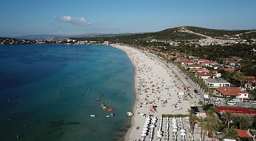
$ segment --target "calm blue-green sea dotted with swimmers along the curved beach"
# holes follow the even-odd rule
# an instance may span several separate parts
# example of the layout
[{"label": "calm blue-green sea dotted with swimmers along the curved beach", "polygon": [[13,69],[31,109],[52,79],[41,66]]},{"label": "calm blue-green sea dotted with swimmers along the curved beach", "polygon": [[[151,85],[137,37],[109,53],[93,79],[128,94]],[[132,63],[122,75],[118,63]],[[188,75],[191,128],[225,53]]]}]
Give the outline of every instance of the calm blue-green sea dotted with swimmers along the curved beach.
[{"label": "calm blue-green sea dotted with swimmers along the curved beach", "polygon": [[0,141],[121,140],[134,76],[110,45],[0,45]]}]

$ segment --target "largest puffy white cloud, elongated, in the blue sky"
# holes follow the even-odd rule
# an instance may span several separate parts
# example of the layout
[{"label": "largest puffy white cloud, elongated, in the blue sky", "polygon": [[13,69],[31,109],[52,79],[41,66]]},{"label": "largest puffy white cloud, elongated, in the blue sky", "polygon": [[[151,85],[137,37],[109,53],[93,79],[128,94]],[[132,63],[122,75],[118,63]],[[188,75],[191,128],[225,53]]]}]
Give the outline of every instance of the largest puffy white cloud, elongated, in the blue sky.
[{"label": "largest puffy white cloud, elongated, in the blue sky", "polygon": [[71,16],[57,16],[55,15],[54,18],[57,20],[61,20],[62,22],[67,22],[73,25],[91,25],[91,22],[88,22],[85,18],[72,18]]}]

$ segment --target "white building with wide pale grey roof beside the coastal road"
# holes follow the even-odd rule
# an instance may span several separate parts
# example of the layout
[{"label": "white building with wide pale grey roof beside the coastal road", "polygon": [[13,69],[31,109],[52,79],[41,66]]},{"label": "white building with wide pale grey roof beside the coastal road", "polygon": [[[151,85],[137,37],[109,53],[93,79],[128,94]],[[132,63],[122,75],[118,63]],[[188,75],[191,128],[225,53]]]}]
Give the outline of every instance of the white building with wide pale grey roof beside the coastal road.
[{"label": "white building with wide pale grey roof beside the coastal road", "polygon": [[230,87],[230,83],[219,78],[203,79],[209,88]]}]

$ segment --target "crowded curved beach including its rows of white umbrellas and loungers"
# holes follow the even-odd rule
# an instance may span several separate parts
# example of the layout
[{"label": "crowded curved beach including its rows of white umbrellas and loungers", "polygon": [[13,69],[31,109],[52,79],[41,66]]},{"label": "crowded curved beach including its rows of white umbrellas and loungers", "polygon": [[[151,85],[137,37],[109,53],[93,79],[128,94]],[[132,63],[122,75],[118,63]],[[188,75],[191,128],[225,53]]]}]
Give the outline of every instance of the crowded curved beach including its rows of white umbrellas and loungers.
[{"label": "crowded curved beach including its rows of white umbrellas and loungers", "polygon": [[[135,68],[136,99],[132,111],[134,116],[132,116],[131,121],[132,127],[128,130],[124,140],[192,141],[188,117],[182,119],[180,117],[175,119],[173,117],[161,118],[161,114],[188,114],[187,109],[195,103],[186,96],[178,95],[178,92],[184,89],[184,85],[186,87],[189,84],[183,80],[180,81],[178,77],[174,77],[177,70],[171,70],[163,62],[144,52],[132,47],[116,44],[112,46],[125,51]],[[156,107],[156,111],[150,104]],[[193,140],[199,139],[200,129],[195,128]],[[206,138],[206,140],[209,139]]]}]

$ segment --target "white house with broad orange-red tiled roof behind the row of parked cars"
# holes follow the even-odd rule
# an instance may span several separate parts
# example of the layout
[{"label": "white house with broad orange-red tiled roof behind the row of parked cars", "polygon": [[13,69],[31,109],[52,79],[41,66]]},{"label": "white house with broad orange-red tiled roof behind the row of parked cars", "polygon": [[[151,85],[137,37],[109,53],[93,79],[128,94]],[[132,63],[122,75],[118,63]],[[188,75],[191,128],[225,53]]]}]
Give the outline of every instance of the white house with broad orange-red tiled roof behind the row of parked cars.
[{"label": "white house with broad orange-red tiled roof behind the row of parked cars", "polygon": [[216,91],[223,97],[236,96],[236,98],[248,98],[248,92],[239,87],[219,87]]}]

